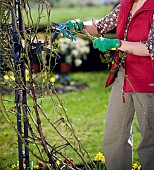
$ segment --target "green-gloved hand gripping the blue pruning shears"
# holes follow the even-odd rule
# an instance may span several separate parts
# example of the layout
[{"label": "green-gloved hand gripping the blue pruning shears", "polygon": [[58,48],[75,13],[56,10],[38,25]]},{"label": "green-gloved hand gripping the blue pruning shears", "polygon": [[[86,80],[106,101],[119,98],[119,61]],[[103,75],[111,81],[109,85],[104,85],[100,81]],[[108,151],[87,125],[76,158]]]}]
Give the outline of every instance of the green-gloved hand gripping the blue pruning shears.
[{"label": "green-gloved hand gripping the blue pruning shears", "polygon": [[83,22],[79,19],[69,20],[66,25],[69,30],[82,31],[84,28]]}]

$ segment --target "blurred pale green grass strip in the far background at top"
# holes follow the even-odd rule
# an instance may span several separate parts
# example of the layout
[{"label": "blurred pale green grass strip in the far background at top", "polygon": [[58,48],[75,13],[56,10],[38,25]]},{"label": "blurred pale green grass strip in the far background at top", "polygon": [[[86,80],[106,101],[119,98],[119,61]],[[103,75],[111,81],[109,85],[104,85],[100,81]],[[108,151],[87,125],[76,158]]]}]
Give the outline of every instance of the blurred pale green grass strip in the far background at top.
[{"label": "blurred pale green grass strip in the far background at top", "polygon": [[[51,22],[64,23],[70,19],[79,18],[81,20],[101,19],[108,14],[112,6],[97,6],[97,7],[75,7],[75,8],[52,8]],[[31,9],[32,17],[36,22],[38,17],[37,8]],[[46,25],[48,22],[47,13],[43,10],[41,14],[40,25]]]}]

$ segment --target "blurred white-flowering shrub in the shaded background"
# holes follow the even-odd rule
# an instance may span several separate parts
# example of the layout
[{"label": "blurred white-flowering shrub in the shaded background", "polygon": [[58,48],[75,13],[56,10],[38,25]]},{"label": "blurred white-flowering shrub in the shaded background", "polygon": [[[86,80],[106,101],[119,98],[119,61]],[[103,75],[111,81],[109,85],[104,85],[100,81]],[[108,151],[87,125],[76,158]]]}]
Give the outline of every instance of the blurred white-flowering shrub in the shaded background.
[{"label": "blurred white-flowering shrub in the shaded background", "polygon": [[82,38],[77,38],[77,41],[73,42],[68,38],[60,38],[59,43],[58,53],[65,56],[66,63],[71,64],[74,61],[75,66],[80,66],[90,52],[89,41]]}]

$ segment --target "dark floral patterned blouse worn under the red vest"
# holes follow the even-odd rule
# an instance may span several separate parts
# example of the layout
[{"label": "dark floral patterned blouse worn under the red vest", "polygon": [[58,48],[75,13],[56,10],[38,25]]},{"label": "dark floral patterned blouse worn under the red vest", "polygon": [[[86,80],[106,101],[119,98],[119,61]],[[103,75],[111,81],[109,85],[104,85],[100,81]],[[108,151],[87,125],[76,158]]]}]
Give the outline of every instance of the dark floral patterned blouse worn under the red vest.
[{"label": "dark floral patterned blouse worn under the red vest", "polygon": [[[106,15],[101,20],[97,20],[97,21],[93,20],[94,24],[97,26],[97,30],[99,34],[103,36],[108,31],[112,30],[113,28],[117,26],[117,18],[119,15],[119,11],[120,11],[120,4],[117,7],[115,7],[111,13]],[[126,40],[127,30],[128,30],[128,26],[129,26],[131,18],[132,18],[132,15],[130,13],[128,17],[128,21],[127,21],[125,34],[124,34],[124,40]],[[154,60],[154,17],[153,17],[153,23],[151,25],[151,30],[149,32],[148,40],[143,43],[146,44],[149,50],[149,53],[151,54],[151,58],[152,60]]]}]

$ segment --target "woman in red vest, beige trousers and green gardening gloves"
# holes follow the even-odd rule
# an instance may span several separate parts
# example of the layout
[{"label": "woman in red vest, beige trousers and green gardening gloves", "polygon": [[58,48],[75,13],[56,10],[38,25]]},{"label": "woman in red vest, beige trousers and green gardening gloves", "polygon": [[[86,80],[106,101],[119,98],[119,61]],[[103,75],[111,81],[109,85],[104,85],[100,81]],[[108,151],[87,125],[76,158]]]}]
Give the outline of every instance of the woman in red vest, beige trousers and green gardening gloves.
[{"label": "woman in red vest, beige trousers and green gardening gloves", "polygon": [[[93,46],[102,52],[117,48],[127,53],[120,61],[119,52],[115,52],[111,69],[117,77],[110,74],[106,83],[109,86],[114,82],[103,141],[107,170],[131,170],[131,127],[135,112],[141,133],[138,146],[141,167],[154,170],[154,0],[121,0],[101,20],[77,19],[67,25],[70,30],[99,33],[101,37],[93,41]],[[114,27],[117,39],[103,38]]]}]

